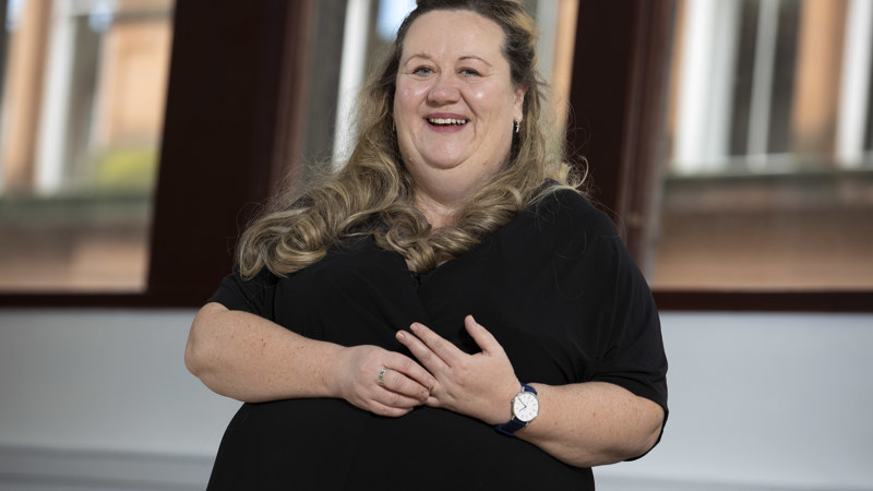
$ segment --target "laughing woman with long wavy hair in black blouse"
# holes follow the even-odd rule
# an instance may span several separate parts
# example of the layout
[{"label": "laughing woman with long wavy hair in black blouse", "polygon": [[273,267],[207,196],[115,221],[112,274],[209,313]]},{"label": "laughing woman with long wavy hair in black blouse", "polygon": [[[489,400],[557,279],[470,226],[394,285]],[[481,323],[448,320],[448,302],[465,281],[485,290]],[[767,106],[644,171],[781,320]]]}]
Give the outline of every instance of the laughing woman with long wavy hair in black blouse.
[{"label": "laughing woman with long wavy hair in black blouse", "polygon": [[657,312],[554,152],[533,20],[418,3],[347,166],[194,319],[189,369],[246,403],[210,489],[594,489],[660,436]]}]

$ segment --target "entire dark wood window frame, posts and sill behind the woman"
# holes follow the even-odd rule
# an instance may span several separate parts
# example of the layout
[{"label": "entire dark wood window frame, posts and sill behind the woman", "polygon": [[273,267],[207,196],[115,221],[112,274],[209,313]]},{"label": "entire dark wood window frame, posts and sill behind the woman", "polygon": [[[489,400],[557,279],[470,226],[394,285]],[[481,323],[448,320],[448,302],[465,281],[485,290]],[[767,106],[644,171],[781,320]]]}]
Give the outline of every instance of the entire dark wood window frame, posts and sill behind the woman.
[{"label": "entire dark wood window frame, posts and sill behind the woman", "polygon": [[[314,0],[177,0],[147,288],[0,307],[202,304],[299,154]],[[581,0],[567,142],[635,258],[653,232],[674,0]],[[292,165],[292,164],[291,164]],[[294,168],[291,168],[294,171]],[[873,291],[656,290],[662,310],[873,311]]]}]

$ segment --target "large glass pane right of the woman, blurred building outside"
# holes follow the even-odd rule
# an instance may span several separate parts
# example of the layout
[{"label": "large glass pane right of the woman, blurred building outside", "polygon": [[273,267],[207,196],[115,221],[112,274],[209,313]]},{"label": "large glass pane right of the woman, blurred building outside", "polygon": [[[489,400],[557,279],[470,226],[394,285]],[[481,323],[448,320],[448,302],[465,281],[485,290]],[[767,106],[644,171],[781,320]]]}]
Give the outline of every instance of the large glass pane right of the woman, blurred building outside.
[{"label": "large glass pane right of the woman, blurred building outside", "polygon": [[683,0],[656,288],[873,287],[873,2]]}]

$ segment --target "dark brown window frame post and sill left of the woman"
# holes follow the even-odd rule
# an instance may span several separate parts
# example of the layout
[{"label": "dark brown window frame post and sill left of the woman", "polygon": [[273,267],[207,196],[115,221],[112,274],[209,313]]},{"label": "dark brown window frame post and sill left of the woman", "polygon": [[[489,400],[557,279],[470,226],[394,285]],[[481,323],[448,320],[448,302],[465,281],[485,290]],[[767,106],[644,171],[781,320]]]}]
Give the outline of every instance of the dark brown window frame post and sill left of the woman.
[{"label": "dark brown window frame post and sill left of the woman", "polygon": [[306,0],[176,2],[144,288],[3,290],[0,306],[202,304],[229,271],[241,224],[280,178],[277,163],[296,153],[301,84],[295,75],[309,47],[311,7]]}]

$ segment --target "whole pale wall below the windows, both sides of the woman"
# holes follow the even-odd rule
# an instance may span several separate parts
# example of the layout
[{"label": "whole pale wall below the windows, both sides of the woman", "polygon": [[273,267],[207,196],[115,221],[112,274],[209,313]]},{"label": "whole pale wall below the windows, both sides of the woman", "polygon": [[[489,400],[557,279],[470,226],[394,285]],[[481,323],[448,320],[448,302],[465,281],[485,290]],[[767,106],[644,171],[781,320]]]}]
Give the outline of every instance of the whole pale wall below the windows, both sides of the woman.
[{"label": "whole pale wall below the windows, both sides of the woman", "polygon": [[[202,489],[238,404],[184,369],[193,313],[0,310],[0,489]],[[598,489],[873,490],[873,315],[662,323],[665,440]]]}]

